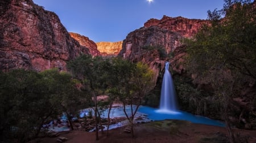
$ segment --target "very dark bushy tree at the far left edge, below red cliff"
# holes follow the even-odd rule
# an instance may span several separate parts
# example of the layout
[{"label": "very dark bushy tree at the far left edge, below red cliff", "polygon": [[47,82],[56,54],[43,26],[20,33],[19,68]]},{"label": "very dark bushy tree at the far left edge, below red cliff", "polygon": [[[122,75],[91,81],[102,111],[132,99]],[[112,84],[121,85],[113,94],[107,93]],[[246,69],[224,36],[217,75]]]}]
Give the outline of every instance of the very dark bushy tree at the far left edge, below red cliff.
[{"label": "very dark bushy tree at the far left edge, below red cliff", "polygon": [[38,135],[42,125],[55,115],[49,103],[46,85],[42,77],[34,71],[13,70],[4,73],[1,98],[5,99],[3,136],[18,142],[27,142]]}]

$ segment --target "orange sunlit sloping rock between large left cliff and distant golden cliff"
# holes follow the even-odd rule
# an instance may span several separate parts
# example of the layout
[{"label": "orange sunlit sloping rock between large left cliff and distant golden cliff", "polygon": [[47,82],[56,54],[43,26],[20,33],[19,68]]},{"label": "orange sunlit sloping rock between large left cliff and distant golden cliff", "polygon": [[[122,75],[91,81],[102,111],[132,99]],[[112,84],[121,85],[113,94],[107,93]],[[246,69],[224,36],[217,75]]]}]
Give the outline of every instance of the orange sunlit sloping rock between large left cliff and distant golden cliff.
[{"label": "orange sunlit sloping rock between large left cliff and distant golden cliff", "polygon": [[100,51],[97,50],[97,45],[94,41],[77,33],[69,32],[69,34],[72,38],[78,41],[81,46],[87,47],[89,49],[89,54],[94,56],[100,55]]}]

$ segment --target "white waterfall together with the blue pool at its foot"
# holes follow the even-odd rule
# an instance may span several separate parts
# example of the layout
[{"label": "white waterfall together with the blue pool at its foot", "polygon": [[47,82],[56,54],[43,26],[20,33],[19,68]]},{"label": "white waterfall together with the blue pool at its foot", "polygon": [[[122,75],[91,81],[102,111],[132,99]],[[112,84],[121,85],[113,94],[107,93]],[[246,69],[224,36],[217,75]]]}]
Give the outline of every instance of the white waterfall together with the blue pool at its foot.
[{"label": "white waterfall together with the blue pool at its foot", "polygon": [[192,123],[217,125],[224,127],[225,124],[222,122],[205,118],[204,116],[192,115],[188,112],[178,110],[176,92],[174,82],[172,81],[172,76],[169,71],[169,64],[169,62],[166,62],[164,68],[159,109],[142,106],[141,108],[139,108],[139,112],[143,112],[143,114],[146,114],[147,118],[151,120],[177,119],[187,120]]}]

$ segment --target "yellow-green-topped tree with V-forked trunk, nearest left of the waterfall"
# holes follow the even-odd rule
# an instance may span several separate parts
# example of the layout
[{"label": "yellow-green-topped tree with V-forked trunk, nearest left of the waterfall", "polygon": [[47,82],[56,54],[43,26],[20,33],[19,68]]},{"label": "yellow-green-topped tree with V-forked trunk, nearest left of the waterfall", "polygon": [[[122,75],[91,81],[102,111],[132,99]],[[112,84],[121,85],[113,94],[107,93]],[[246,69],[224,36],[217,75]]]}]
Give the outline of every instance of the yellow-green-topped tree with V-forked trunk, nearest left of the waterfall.
[{"label": "yellow-green-topped tree with V-forked trunk, nearest left of the waterfall", "polygon": [[[121,101],[123,102],[123,111],[125,112],[126,118],[129,120],[131,127],[131,136],[134,137],[134,128],[133,122],[134,117],[139,109],[139,106],[142,103],[142,99],[146,96],[147,93],[150,92],[153,83],[154,73],[146,64],[141,62],[126,67],[126,70],[130,68],[130,77],[126,77],[127,81],[125,83],[125,88],[123,94],[121,94]],[[126,112],[126,105],[130,105],[131,114],[130,116]],[[135,105],[135,110],[133,109],[133,105]]]}]

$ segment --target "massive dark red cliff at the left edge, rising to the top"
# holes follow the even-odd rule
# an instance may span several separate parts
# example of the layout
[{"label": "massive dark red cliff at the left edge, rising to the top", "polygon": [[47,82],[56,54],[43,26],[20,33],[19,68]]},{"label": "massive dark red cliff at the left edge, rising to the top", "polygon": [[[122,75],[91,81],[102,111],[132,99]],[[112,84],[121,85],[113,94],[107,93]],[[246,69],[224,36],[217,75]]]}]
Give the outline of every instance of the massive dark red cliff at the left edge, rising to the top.
[{"label": "massive dark red cliff at the left edge, rising to the top", "polygon": [[0,1],[0,70],[65,70],[66,61],[89,50],[74,40],[58,16],[32,0]]}]

